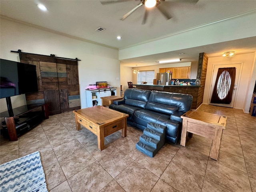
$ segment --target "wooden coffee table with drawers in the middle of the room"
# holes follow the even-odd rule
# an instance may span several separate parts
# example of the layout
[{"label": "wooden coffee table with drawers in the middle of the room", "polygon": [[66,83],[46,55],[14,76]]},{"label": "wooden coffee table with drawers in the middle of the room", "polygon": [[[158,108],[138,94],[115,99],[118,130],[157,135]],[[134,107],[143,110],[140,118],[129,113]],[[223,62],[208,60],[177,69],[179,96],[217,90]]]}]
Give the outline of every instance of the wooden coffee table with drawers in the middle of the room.
[{"label": "wooden coffee table with drawers in the middle of the room", "polygon": [[74,110],[76,130],[83,125],[86,129],[98,136],[98,149],[104,149],[104,137],[122,130],[122,137],[126,137],[126,118],[129,116],[118,111],[94,106],[80,110]]}]

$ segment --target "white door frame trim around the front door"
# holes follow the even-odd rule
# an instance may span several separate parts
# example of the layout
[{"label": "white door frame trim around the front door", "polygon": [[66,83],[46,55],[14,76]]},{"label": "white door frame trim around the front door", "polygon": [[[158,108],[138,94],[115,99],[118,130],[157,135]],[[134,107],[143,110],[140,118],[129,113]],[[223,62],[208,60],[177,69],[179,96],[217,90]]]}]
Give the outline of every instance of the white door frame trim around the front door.
[{"label": "white door frame trim around the front door", "polygon": [[[212,64],[212,70],[211,70],[211,81],[210,81],[210,87],[209,87],[209,92],[208,92],[208,100],[207,100],[207,104],[210,104],[210,99],[211,99],[211,90],[212,90],[212,82],[213,82],[213,71],[214,71],[214,67],[218,66],[218,65],[234,65],[234,64],[240,64],[240,72],[238,74],[238,81],[237,81],[237,88],[236,88],[236,95],[234,98],[234,105],[233,108],[236,108],[236,99],[237,99],[237,95],[238,95],[238,91],[239,91],[239,86],[240,86],[240,80],[241,80],[241,75],[242,75],[242,70],[243,70],[243,66],[244,66],[244,62],[218,62],[216,64]],[[214,85],[213,85],[214,86]]]}]

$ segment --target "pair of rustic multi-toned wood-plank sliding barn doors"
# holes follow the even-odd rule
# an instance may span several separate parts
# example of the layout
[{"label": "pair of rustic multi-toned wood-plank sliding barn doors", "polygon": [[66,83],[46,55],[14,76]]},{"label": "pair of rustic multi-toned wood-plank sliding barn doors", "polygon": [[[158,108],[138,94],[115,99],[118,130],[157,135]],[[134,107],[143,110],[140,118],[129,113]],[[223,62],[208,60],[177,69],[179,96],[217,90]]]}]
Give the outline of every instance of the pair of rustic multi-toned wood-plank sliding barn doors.
[{"label": "pair of rustic multi-toned wood-plank sliding barn doors", "polygon": [[20,53],[20,62],[36,65],[38,92],[26,94],[27,104],[47,102],[49,115],[80,109],[78,62]]}]

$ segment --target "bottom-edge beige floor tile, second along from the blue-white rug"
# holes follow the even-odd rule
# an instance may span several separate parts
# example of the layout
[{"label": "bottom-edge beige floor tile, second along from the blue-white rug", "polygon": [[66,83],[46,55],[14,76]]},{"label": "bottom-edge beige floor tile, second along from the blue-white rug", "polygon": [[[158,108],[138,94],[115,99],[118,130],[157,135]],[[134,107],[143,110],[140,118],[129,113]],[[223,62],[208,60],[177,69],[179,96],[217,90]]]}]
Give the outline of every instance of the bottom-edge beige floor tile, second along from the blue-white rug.
[{"label": "bottom-edge beige floor tile, second along from the blue-white rug", "polygon": [[68,179],[72,192],[98,192],[113,178],[96,162]]}]

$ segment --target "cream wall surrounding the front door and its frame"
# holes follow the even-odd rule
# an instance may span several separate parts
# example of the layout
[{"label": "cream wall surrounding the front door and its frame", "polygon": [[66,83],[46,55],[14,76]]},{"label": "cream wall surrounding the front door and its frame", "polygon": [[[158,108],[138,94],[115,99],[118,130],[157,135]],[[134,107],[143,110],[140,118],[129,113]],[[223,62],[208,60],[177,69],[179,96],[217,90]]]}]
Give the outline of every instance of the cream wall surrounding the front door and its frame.
[{"label": "cream wall surrounding the front door and its frame", "polygon": [[203,104],[209,104],[210,88],[212,70],[214,65],[223,64],[237,64],[242,63],[242,73],[240,82],[238,82],[238,90],[236,90],[236,99],[234,101],[234,108],[243,109],[244,112],[248,113],[250,108],[250,102],[252,99],[253,88],[256,80],[256,64],[255,64],[256,53],[240,54],[235,55],[231,58],[213,57],[208,58],[206,82],[204,88]]}]

